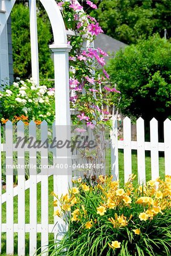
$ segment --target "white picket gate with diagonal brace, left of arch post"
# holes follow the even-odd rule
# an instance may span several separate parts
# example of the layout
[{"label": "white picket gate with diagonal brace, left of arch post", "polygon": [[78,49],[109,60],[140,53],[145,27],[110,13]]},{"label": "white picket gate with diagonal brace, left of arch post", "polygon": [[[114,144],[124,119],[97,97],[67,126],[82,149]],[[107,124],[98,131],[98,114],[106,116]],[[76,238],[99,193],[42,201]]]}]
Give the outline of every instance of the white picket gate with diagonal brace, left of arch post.
[{"label": "white picket gate with diagonal brace, left of arch post", "polygon": [[[1,126],[0,126],[1,129]],[[16,127],[15,127],[16,129]],[[30,122],[29,132],[27,135],[34,138],[33,143],[36,141],[36,125],[35,122]],[[19,121],[17,124],[17,137],[24,137],[24,123]],[[53,138],[55,137],[53,130]],[[0,132],[1,135],[1,132]],[[45,142],[48,138],[48,125],[47,122],[43,121],[40,125],[39,137],[41,142]],[[26,233],[30,233],[29,241],[29,254],[33,256],[37,250],[37,233],[41,233],[41,246],[42,251],[45,246],[48,245],[49,233],[54,234],[56,238],[57,234],[62,232],[62,228],[57,226],[58,217],[54,217],[53,224],[49,224],[48,218],[48,179],[49,176],[53,176],[53,189],[57,192],[57,188],[61,187],[61,181],[59,180],[59,175],[57,172],[55,174],[55,169],[53,167],[48,167],[48,148],[28,148],[28,144],[24,148],[15,148],[16,143],[14,143],[14,129],[10,121],[5,125],[5,143],[1,143],[0,137],[0,180],[2,180],[2,152],[5,152],[5,166],[6,166],[6,192],[2,193],[2,183],[0,183],[0,254],[2,251],[2,233],[6,233],[6,254],[14,254],[14,233],[18,233],[18,255],[26,255]],[[52,138],[51,138],[52,141]],[[14,165],[14,152],[17,152],[17,163],[20,164],[18,168],[18,185],[14,187],[14,176],[13,176],[13,166]],[[29,152],[29,175],[30,179],[25,179],[25,152]],[[40,164],[42,166],[47,166],[43,168],[41,172],[37,174],[37,170],[34,166],[37,164],[37,152],[40,152],[41,159]],[[53,153],[53,163],[55,161],[55,151]],[[79,155],[73,155],[73,162],[79,160]],[[77,161],[78,163],[78,161]],[[53,164],[52,164],[53,165]],[[7,168],[11,166],[12,168]],[[23,166],[23,167],[22,167]],[[37,183],[41,183],[41,205],[37,205]],[[66,179],[67,183],[67,179]],[[66,184],[68,186],[68,184]],[[26,223],[25,213],[26,213],[26,189],[30,190],[30,222]],[[52,192],[52,191],[51,191]],[[14,223],[14,197],[18,196],[18,222]],[[6,203],[6,222],[2,222],[2,204]],[[53,203],[53,197],[52,197]],[[37,209],[41,210],[41,223],[37,223]],[[27,213],[26,213],[27,214]],[[60,230],[61,229],[61,230]],[[52,239],[52,237],[51,237]],[[4,243],[3,237],[3,243]],[[4,253],[4,251],[3,251]],[[16,253],[16,252],[15,252]],[[43,255],[46,255],[45,253]]]}]

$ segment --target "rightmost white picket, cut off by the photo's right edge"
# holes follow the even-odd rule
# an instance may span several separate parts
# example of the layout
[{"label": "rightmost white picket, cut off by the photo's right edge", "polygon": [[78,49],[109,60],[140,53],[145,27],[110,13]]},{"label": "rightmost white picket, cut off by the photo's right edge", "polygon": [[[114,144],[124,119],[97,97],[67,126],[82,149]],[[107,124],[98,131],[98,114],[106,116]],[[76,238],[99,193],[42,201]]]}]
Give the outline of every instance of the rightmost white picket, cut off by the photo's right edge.
[{"label": "rightmost white picket, cut off by the photo's right edge", "polygon": [[165,154],[165,175],[171,175],[171,121],[167,118],[164,122],[164,154]]}]

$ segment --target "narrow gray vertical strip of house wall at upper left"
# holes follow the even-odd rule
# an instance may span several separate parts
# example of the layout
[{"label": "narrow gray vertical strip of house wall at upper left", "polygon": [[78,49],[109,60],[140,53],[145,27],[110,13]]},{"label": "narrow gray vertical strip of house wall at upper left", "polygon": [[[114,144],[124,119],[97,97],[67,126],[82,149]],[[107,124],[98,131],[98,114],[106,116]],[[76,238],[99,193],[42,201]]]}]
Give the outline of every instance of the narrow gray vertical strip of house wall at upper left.
[{"label": "narrow gray vertical strip of house wall at upper left", "polygon": [[14,81],[13,59],[12,59],[12,36],[11,36],[11,16],[7,20],[7,37],[9,50],[9,78],[10,84]]}]

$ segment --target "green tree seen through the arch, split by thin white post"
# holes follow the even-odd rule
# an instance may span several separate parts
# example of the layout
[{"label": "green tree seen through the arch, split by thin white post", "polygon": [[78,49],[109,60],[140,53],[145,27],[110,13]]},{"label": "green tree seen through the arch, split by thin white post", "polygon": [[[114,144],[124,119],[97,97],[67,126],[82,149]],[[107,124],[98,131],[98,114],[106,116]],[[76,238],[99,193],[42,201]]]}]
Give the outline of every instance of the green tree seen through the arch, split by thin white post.
[{"label": "green tree seen through the arch, split by thin white post", "polygon": [[[22,79],[31,76],[30,17],[26,5],[14,6],[12,19],[12,51],[14,75]],[[39,43],[40,77],[53,78],[53,61],[49,43],[52,40],[51,24],[44,11],[37,11],[37,34]]]}]

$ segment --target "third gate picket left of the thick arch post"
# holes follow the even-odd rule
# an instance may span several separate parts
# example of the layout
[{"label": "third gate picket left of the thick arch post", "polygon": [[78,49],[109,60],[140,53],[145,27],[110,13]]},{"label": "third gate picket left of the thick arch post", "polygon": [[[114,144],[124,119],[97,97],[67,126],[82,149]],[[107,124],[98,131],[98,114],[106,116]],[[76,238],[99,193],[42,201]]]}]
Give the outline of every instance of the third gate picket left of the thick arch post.
[{"label": "third gate picket left of the thick arch post", "polygon": [[[17,136],[24,138],[24,123],[17,124]],[[25,255],[25,169],[24,150],[18,150],[18,255]]]}]

